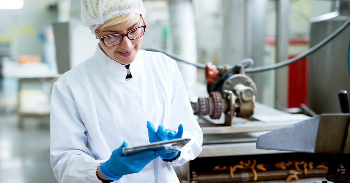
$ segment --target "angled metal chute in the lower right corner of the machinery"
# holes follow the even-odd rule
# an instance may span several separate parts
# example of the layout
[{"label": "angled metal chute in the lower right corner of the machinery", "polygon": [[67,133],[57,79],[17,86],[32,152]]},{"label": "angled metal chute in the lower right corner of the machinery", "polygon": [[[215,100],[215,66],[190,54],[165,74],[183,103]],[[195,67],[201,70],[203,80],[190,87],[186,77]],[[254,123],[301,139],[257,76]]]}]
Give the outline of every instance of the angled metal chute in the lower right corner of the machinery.
[{"label": "angled metal chute in the lower right corner of the machinery", "polygon": [[[327,180],[350,182],[350,114],[322,114],[261,135],[257,149],[330,154]],[[327,182],[327,181],[326,181]]]}]

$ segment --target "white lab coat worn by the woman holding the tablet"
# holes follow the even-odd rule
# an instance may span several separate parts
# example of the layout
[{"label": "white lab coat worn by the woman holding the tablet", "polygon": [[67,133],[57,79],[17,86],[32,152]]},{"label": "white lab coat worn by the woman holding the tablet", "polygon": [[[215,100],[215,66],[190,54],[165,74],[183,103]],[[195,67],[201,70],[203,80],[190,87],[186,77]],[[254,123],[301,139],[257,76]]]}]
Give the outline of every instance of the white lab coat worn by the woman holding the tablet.
[{"label": "white lab coat worn by the woman holding the tablet", "polygon": [[149,143],[147,121],[165,125],[191,138],[181,156],[166,164],[160,157],[121,183],[178,183],[172,166],[195,159],[202,151],[202,131],[176,62],[158,52],[140,50],[126,68],[97,46],[95,55],[64,73],[51,98],[51,166],[58,182],[101,182],[96,170],[123,141],[129,146]]}]

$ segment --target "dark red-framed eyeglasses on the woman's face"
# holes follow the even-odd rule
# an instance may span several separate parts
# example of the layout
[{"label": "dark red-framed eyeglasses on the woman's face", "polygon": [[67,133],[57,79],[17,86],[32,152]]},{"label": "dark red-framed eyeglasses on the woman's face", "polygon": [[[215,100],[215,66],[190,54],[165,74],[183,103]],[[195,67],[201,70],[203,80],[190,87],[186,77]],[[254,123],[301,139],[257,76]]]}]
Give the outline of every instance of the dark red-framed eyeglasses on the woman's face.
[{"label": "dark red-framed eyeglasses on the woman's face", "polygon": [[142,21],[144,21],[144,25],[134,28],[132,30],[129,30],[125,34],[113,34],[113,35],[101,37],[98,34],[98,32],[95,30],[97,33],[96,38],[98,37],[97,39],[100,39],[107,47],[120,44],[121,41],[123,41],[124,36],[128,37],[129,40],[135,40],[145,34],[146,23],[142,15],[141,15],[141,18],[142,18]]}]

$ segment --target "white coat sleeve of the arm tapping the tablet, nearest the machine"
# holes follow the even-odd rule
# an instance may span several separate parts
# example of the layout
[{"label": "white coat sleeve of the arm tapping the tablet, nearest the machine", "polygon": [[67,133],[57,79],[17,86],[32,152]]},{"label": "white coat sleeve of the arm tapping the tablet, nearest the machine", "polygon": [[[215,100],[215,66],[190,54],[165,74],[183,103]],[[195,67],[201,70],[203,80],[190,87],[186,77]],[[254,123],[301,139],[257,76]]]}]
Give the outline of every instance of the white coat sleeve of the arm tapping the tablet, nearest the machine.
[{"label": "white coat sleeve of the arm tapping the tablet, nearest the machine", "polygon": [[194,160],[202,152],[203,133],[193,114],[180,70],[176,62],[172,61],[173,83],[169,129],[177,129],[182,124],[184,128],[182,138],[191,138],[191,140],[181,149],[181,154],[175,161],[163,160],[163,162],[170,166],[182,166],[187,161]]}]

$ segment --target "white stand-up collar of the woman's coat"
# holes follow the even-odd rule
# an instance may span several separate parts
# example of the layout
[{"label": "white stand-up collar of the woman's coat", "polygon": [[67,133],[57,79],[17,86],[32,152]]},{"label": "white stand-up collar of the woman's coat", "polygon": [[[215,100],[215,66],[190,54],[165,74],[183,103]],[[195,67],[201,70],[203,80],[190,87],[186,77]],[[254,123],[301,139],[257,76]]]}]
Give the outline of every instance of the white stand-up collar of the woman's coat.
[{"label": "white stand-up collar of the woman's coat", "polygon": [[[98,43],[99,44],[99,43]],[[141,64],[143,64],[142,56],[140,56],[140,51],[137,53],[135,60],[130,64],[130,72],[132,77],[137,77],[137,74],[141,68]],[[127,70],[124,65],[114,61],[112,58],[107,56],[97,45],[94,60],[102,67],[104,71],[109,73],[110,75],[125,80]],[[132,79],[131,79],[132,80]]]}]

